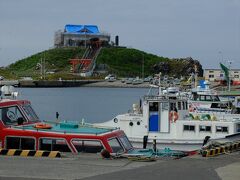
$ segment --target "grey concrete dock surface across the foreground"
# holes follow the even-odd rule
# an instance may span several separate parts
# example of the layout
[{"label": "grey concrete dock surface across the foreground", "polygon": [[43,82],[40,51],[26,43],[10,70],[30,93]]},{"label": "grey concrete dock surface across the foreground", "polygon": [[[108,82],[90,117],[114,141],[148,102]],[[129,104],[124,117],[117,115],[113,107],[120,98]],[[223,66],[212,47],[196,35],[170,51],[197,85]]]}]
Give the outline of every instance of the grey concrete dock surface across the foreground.
[{"label": "grey concrete dock surface across the foreground", "polygon": [[0,179],[240,179],[240,152],[204,158],[160,158],[155,162],[102,159],[96,154],[65,158],[0,156]]}]

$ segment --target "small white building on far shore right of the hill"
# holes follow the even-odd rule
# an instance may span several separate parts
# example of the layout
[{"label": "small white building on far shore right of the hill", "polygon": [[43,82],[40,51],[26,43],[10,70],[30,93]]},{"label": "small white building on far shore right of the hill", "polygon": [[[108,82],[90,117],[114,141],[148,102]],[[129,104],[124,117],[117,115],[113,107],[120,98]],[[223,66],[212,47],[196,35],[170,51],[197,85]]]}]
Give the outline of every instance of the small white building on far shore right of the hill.
[{"label": "small white building on far shore right of the hill", "polygon": [[[220,81],[225,79],[225,74],[222,69],[204,69],[205,80]],[[240,80],[240,69],[231,69],[230,78],[233,81]]]}]

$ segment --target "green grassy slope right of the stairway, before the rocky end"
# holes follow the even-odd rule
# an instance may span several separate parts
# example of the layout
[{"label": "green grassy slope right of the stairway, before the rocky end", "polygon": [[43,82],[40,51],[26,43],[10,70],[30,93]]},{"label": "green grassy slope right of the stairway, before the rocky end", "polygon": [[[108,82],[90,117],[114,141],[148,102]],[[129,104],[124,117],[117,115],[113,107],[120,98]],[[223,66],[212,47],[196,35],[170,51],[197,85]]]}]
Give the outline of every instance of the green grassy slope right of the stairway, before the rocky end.
[{"label": "green grassy slope right of the stairway, before the rocky end", "polygon": [[97,64],[107,64],[110,73],[120,76],[152,75],[153,65],[158,62],[170,61],[168,58],[147,54],[137,49],[127,48],[104,48],[98,56]]}]

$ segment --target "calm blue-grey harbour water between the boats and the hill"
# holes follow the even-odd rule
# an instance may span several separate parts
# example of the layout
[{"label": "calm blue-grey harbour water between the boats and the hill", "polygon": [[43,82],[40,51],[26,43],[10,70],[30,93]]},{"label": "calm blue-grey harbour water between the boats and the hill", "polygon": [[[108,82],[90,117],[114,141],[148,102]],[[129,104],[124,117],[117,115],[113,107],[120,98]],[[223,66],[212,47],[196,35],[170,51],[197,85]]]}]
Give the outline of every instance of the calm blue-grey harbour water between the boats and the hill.
[{"label": "calm blue-grey harbour water between the boats and the hill", "polygon": [[142,88],[17,88],[18,99],[27,99],[42,120],[104,122],[127,112],[148,92]]}]

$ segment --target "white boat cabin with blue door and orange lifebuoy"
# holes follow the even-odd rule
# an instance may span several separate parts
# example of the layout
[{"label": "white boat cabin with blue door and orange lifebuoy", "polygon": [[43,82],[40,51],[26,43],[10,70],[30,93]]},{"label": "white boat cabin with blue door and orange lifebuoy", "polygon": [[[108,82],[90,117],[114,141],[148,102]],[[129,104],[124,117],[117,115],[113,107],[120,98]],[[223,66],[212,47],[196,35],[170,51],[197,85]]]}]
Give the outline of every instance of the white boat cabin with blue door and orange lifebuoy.
[{"label": "white boat cabin with blue door and orange lifebuoy", "polygon": [[186,97],[145,96],[143,116],[148,119],[148,132],[170,132],[170,124],[183,119],[188,114]]}]

